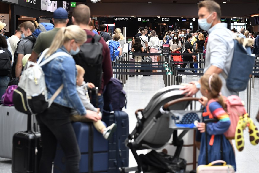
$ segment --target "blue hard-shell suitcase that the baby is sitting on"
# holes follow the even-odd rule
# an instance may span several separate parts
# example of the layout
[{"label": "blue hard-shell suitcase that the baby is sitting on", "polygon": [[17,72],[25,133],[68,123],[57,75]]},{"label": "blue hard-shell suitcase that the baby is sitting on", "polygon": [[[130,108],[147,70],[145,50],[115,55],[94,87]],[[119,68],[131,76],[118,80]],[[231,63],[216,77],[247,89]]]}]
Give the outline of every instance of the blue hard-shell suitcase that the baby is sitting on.
[{"label": "blue hard-shell suitcase that the baby is sitting on", "polygon": [[[107,173],[108,141],[93,126],[93,123],[72,123],[77,137],[81,160],[80,173]],[[65,172],[65,157],[58,146],[54,159],[54,173]]]}]

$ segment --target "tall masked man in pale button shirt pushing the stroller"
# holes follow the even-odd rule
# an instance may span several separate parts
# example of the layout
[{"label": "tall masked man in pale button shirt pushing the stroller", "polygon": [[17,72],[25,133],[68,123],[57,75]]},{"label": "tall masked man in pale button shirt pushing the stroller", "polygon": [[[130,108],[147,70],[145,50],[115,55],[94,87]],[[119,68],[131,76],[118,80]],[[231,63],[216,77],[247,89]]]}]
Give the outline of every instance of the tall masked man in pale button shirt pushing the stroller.
[{"label": "tall masked man in pale button shirt pushing the stroller", "polygon": [[[202,1],[198,7],[199,26],[209,33],[209,40],[206,46],[204,74],[219,74],[222,80],[222,95],[226,97],[238,95],[237,92],[228,90],[226,79],[222,75],[222,73],[225,73],[226,76],[228,76],[231,67],[231,61],[234,54],[234,33],[227,28],[227,23],[221,23],[220,5],[215,1]],[[185,90],[183,93],[186,93],[186,97],[194,95],[200,89],[199,81],[190,83],[193,85],[185,86],[182,89]]]}]

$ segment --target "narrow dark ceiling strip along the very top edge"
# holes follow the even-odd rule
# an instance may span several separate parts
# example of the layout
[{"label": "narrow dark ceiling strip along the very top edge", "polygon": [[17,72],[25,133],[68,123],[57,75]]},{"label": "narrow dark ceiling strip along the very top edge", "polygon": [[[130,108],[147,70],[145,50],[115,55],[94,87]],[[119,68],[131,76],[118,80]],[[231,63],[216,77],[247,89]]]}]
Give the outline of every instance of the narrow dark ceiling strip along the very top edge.
[{"label": "narrow dark ceiling strip along the very top edge", "polygon": [[[176,1],[174,3],[173,1]],[[219,4],[257,4],[257,0],[215,0]],[[90,0],[87,0],[90,2]],[[166,3],[166,4],[197,4],[199,0],[101,0],[98,3]],[[226,2],[226,3],[223,3]]]}]

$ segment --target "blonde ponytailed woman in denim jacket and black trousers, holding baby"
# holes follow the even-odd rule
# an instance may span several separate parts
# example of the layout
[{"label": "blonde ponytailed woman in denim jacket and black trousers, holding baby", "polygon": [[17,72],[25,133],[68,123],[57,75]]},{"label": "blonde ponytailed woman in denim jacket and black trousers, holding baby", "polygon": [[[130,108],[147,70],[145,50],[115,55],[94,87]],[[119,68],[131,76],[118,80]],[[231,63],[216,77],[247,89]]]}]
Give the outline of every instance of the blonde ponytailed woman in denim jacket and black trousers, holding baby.
[{"label": "blonde ponytailed woman in denim jacket and black trousers, holding baby", "polygon": [[48,99],[62,84],[63,89],[50,108],[36,115],[42,139],[39,173],[52,172],[57,143],[65,153],[66,172],[79,173],[80,151],[70,120],[71,108],[94,121],[100,119],[97,112],[85,109],[76,90],[77,71],[71,55],[76,55],[85,41],[86,33],[79,26],[62,27],[53,39],[50,48],[42,53],[45,56],[43,62],[56,52],[64,52],[67,55],[58,56],[42,66]]}]

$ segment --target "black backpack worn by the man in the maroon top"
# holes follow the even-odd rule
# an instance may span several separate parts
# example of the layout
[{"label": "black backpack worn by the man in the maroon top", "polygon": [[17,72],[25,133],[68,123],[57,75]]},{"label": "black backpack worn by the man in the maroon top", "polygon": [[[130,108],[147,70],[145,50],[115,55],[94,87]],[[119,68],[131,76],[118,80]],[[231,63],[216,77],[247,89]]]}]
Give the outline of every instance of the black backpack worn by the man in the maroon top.
[{"label": "black backpack worn by the man in the maroon top", "polygon": [[88,35],[87,39],[89,38],[92,38],[92,41],[80,46],[80,52],[73,57],[76,64],[85,69],[85,82],[92,82],[96,87],[101,88],[103,73],[103,45],[99,42],[101,36]]}]

